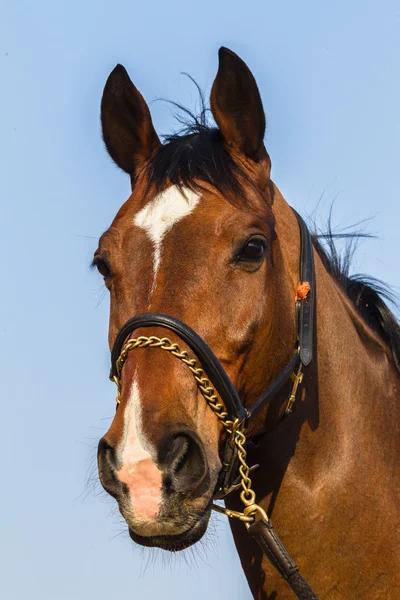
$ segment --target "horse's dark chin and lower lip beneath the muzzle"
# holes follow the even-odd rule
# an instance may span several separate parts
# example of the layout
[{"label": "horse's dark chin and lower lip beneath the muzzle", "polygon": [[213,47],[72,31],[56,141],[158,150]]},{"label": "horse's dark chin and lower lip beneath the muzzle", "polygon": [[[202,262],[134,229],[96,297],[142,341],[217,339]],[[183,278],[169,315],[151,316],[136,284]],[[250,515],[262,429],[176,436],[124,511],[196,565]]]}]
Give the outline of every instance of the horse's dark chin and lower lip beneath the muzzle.
[{"label": "horse's dark chin and lower lip beneath the muzzle", "polygon": [[177,535],[142,536],[135,533],[130,527],[129,535],[136,544],[140,544],[141,546],[161,548],[169,552],[179,552],[201,540],[207,530],[210,514],[211,510],[207,510],[192,527]]}]

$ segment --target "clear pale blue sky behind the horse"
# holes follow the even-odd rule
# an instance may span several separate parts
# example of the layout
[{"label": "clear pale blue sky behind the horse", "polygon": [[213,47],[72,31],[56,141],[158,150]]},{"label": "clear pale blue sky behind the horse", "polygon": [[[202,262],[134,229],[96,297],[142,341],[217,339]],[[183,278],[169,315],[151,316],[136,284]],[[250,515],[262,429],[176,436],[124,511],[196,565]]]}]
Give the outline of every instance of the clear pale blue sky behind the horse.
[{"label": "clear pale blue sky behind the horse", "polygon": [[[117,62],[148,102],[193,106],[217,50],[252,68],[273,179],[303,214],[373,217],[355,269],[400,286],[400,7],[395,0],[1,4],[3,293],[0,578],[7,600],[250,598],[228,525],[195,553],[134,548],[85,480],[114,410],[108,300],[87,266],[129,195],[100,139]],[[171,108],[152,103],[159,132]],[[120,535],[121,534],[121,535]]]}]

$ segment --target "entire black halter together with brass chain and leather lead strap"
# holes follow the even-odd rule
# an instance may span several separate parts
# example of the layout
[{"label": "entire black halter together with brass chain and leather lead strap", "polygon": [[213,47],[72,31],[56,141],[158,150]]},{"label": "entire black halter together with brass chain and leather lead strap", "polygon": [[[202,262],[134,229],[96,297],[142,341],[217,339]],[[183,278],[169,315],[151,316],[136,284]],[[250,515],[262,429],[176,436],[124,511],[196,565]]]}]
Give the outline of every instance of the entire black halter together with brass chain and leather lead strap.
[{"label": "entire black halter together with brass chain and leather lead strap", "polygon": [[[294,210],[294,209],[293,209]],[[296,290],[296,340],[293,355],[280,375],[249,408],[243,405],[235,387],[227,373],[206,342],[186,323],[170,315],[161,313],[143,313],[129,319],[120,329],[111,352],[110,379],[117,384],[117,406],[121,402],[122,367],[131,350],[136,348],[161,348],[180,359],[192,372],[198,389],[207,404],[217,415],[225,431],[228,441],[223,457],[215,498],[224,498],[235,489],[242,488],[240,498],[244,504],[243,512],[232,511],[213,505],[218,512],[231,518],[241,520],[249,533],[257,540],[263,552],[279,573],[287,579],[298,598],[303,600],[317,599],[310,586],[301,577],[298,566],[289,555],[277,536],[271,520],[264,509],[256,503],[255,492],[251,489],[249,477],[250,467],[246,462],[245,444],[248,441],[246,430],[267,403],[279,392],[282,386],[292,379],[293,389],[287,401],[285,414],[292,412],[299,383],[303,378],[303,367],[307,367],[313,357],[314,320],[315,320],[315,270],[313,246],[310,232],[294,211],[300,228],[300,283]],[[199,360],[191,358],[186,350],[168,338],[156,336],[139,336],[127,340],[136,329],[146,327],[163,327],[172,331],[193,351]],[[127,341],[126,341],[127,340]],[[219,398],[216,394],[218,393]],[[239,470],[239,479],[235,480]],[[260,518],[256,520],[256,515]]]}]

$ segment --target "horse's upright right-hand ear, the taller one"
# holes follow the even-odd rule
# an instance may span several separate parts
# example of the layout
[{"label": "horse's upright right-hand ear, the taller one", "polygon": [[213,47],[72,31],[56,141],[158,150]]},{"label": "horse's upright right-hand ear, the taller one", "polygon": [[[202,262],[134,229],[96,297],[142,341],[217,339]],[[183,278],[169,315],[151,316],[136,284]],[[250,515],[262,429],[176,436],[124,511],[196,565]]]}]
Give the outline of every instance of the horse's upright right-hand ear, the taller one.
[{"label": "horse's upright right-hand ear, the taller one", "polygon": [[264,148],[265,114],[250,69],[237,54],[220,48],[211,90],[211,112],[228,146],[259,162]]}]

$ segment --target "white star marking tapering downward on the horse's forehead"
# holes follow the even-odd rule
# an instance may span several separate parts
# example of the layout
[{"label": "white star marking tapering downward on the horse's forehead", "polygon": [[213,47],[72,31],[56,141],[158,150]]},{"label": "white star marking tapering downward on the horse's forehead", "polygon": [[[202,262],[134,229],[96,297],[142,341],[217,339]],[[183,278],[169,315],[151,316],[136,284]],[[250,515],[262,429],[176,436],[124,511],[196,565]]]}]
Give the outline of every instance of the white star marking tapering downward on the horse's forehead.
[{"label": "white star marking tapering downward on the horse's forehead", "polygon": [[169,187],[146,204],[134,217],[137,227],[144,229],[154,244],[154,283],[161,261],[161,245],[165,234],[172,227],[194,211],[200,200],[200,194],[188,188],[182,191],[175,185]]}]

